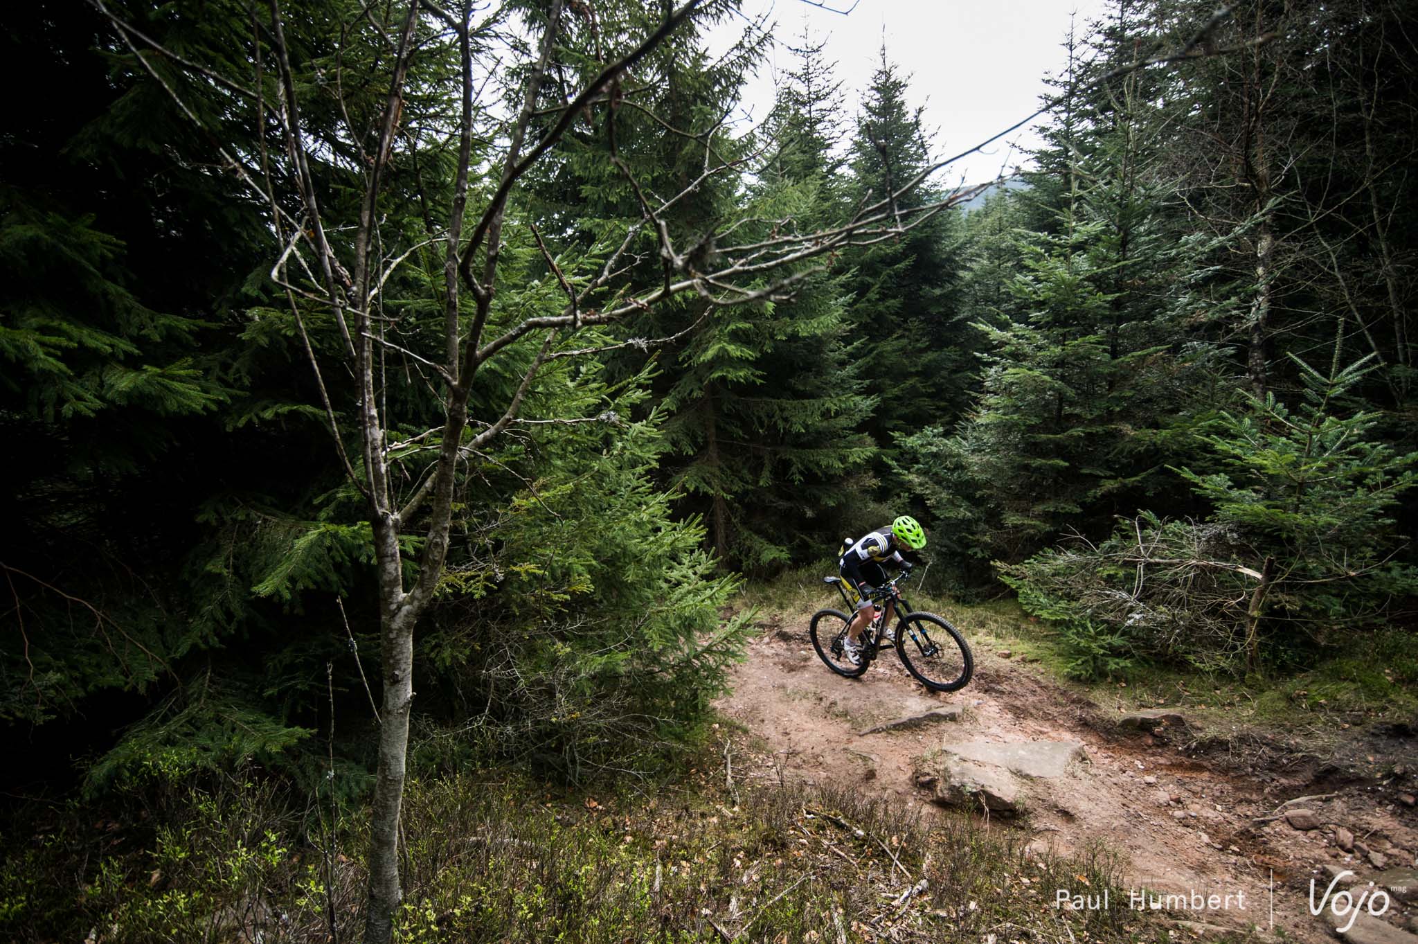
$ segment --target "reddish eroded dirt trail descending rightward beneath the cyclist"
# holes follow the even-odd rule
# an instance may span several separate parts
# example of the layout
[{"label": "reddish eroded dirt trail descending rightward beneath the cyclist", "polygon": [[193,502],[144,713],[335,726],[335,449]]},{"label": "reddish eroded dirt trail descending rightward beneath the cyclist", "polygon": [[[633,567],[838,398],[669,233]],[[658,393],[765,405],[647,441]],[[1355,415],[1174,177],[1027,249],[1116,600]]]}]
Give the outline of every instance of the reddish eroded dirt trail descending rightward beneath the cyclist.
[{"label": "reddish eroded dirt trail descending rightward beneath the cyclist", "polygon": [[[1180,750],[1188,737],[1122,731],[1117,712],[980,642],[974,644],[974,679],[951,695],[927,693],[895,652],[882,653],[864,678],[842,679],[818,661],[807,622],[798,614],[770,625],[736,669],[733,693],[718,706],[761,738],[750,775],[855,784],[949,815],[916,778],[919,771],[940,770],[942,743],[1079,741],[1088,763],[1062,777],[1025,781],[1025,814],[995,815],[988,826],[1012,831],[1041,852],[1076,853],[1103,843],[1124,863],[1127,889],[1232,896],[1229,907],[1178,917],[1225,927],[1254,924],[1266,934],[1273,927],[1300,941],[1332,940],[1327,931],[1334,921],[1327,927],[1309,911],[1310,877],[1317,876],[1320,894],[1330,883],[1320,870],[1326,863],[1351,869],[1366,882],[1385,858],[1388,867],[1414,865],[1418,816],[1401,802],[1385,802],[1373,785],[1336,791],[1309,782],[1309,775],[1228,774]],[[944,704],[961,707],[960,720],[861,734]],[[1283,818],[1255,822],[1306,794],[1333,794],[1303,804],[1324,826],[1296,829]],[[1334,838],[1340,825],[1367,836],[1370,845],[1344,852]],[[1370,849],[1387,852],[1370,863],[1363,859]],[[1384,920],[1397,930],[1418,920],[1415,911],[1412,899],[1394,901]]]}]

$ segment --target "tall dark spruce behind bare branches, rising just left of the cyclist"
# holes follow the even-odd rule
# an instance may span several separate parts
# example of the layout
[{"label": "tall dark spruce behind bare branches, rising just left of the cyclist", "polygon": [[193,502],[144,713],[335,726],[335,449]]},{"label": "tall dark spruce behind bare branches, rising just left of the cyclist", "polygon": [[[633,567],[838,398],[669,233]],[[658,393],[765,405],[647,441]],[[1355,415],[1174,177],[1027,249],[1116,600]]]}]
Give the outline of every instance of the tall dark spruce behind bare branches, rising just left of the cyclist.
[{"label": "tall dark spruce behind bare branches, rising just left of the cyclist", "polygon": [[[794,52],[744,214],[814,228],[841,210],[839,84],[821,43],[804,38]],[[744,232],[776,235],[761,224]],[[800,264],[788,298],[709,310],[665,401],[669,444],[682,456],[669,463],[674,482],[705,515],[720,557],[746,570],[811,558],[835,540],[845,482],[873,454],[856,432],[872,401],[844,344],[845,278],[820,266]]]}]

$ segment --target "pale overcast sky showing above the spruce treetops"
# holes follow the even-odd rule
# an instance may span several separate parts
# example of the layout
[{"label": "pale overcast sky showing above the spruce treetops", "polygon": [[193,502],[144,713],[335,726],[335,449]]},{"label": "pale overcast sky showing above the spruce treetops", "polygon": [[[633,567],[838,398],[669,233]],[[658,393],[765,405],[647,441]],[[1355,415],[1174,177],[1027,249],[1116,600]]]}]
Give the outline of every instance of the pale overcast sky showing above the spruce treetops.
[{"label": "pale overcast sky showing above the spruce treetops", "polygon": [[[845,10],[851,0],[824,0]],[[1046,72],[1062,71],[1064,37],[1076,14],[1079,34],[1090,18],[1103,14],[1106,0],[859,0],[847,16],[803,0],[743,0],[747,16],[770,13],[776,35],[798,44],[804,27],[827,37],[827,58],[837,62],[848,118],[856,113],[861,91],[886,54],[910,77],[910,103],[925,106],[927,128],[936,132],[933,150],[950,157],[1004,130],[1035,108],[1046,92]],[[742,31],[744,21],[725,24],[710,37],[722,47],[727,30]],[[774,71],[791,68],[793,54],[777,48],[754,77],[744,108],[761,119],[773,102]],[[1024,129],[943,170],[940,183],[988,180],[1010,154],[1008,142],[1028,149],[1038,137]]]}]

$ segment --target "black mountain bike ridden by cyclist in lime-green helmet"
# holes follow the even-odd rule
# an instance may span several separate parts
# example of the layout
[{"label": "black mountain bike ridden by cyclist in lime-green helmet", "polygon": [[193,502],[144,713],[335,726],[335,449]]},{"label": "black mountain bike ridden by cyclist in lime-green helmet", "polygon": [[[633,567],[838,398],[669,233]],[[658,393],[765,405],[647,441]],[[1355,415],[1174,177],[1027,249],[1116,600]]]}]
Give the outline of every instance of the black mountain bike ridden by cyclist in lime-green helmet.
[{"label": "black mountain bike ridden by cyclist in lime-green helmet", "polygon": [[[889,649],[895,645],[902,665],[916,676],[917,682],[933,692],[957,692],[970,682],[970,676],[974,673],[970,644],[964,641],[959,629],[936,614],[912,611],[910,604],[896,588],[896,584],[909,575],[910,571],[902,571],[872,592],[871,600],[878,609],[871,624],[862,629],[862,635],[856,639],[862,646],[858,665],[852,665],[842,648],[852,618],[841,609],[818,609],[813,614],[813,624],[808,628],[813,648],[817,649],[817,655],[821,656],[828,669],[848,679],[855,679],[866,672],[881,649]],[[855,612],[856,604],[848,594],[851,584],[841,577],[824,577],[822,583],[837,587],[848,612]],[[888,600],[895,602],[895,644],[883,641],[886,635],[885,602]]]}]

